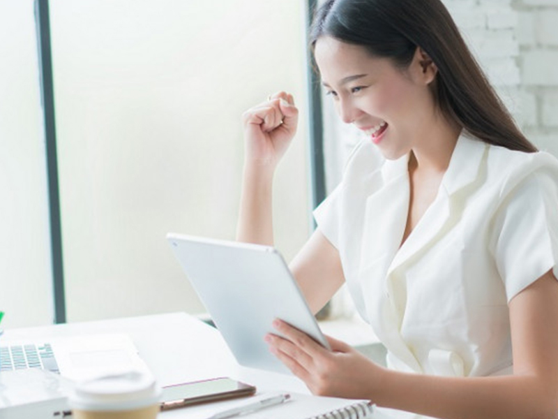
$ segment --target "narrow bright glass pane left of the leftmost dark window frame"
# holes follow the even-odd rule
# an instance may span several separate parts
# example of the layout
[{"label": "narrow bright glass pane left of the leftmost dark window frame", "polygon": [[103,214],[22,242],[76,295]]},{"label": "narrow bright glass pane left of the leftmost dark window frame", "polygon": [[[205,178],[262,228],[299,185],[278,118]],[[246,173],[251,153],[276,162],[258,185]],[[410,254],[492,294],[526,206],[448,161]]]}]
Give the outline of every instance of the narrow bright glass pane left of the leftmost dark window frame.
[{"label": "narrow bright glass pane left of the leftmost dark window frame", "polygon": [[0,0],[2,327],[52,323],[52,272],[32,0]]}]

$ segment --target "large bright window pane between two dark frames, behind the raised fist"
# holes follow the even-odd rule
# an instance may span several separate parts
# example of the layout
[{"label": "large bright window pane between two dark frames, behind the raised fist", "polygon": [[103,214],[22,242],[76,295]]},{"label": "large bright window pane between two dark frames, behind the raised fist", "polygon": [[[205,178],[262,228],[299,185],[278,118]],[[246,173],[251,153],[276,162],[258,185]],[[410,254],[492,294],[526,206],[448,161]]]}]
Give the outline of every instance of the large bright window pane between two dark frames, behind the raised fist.
[{"label": "large bright window pane between two dark frames, behind the raised fist", "polygon": [[[241,114],[306,115],[304,2],[51,0],[68,320],[203,311],[165,241],[233,239]],[[306,123],[276,175],[276,245],[308,237]]]}]

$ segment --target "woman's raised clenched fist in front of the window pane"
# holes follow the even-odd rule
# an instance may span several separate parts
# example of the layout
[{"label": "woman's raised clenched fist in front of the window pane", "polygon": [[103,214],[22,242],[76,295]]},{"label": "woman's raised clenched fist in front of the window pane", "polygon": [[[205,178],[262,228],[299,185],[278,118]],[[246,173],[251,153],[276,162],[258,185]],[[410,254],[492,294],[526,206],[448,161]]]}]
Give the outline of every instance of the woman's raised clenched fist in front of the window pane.
[{"label": "woman's raised clenched fist in front of the window pane", "polygon": [[274,170],[296,133],[299,110],[281,91],[243,113],[246,164]]}]

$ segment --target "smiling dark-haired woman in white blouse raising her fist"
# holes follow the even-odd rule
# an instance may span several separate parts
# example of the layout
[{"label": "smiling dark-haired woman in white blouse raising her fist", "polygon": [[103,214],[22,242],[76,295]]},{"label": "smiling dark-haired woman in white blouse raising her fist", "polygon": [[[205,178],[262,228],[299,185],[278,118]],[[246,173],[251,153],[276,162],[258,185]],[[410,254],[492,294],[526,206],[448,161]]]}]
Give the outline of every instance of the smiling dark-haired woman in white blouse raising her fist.
[{"label": "smiling dark-haired woman in white blouse raising her fist", "polygon": [[[328,0],[311,39],[340,117],[369,140],[291,268],[314,312],[346,281],[388,368],[281,321],[270,350],[319,395],[556,418],[556,159],[518,131],[439,0]],[[285,92],[243,115],[239,240],[273,244],[273,172],[297,117]]]}]

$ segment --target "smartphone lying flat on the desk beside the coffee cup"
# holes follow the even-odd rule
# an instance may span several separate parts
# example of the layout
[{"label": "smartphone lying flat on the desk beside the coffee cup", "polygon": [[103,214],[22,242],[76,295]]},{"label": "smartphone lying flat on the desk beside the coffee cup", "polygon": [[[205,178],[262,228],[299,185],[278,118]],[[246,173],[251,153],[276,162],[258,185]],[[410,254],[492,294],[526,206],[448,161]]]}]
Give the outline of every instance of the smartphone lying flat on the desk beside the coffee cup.
[{"label": "smartphone lying flat on the desk beside the coffee cup", "polygon": [[163,387],[160,409],[165,411],[193,404],[252,396],[255,392],[254,385],[241,383],[228,377],[167,385]]}]

